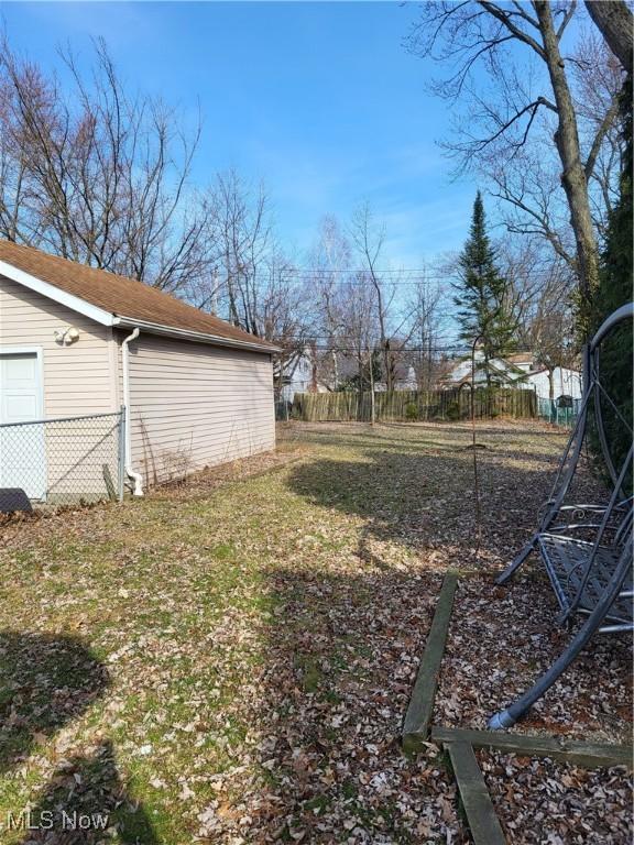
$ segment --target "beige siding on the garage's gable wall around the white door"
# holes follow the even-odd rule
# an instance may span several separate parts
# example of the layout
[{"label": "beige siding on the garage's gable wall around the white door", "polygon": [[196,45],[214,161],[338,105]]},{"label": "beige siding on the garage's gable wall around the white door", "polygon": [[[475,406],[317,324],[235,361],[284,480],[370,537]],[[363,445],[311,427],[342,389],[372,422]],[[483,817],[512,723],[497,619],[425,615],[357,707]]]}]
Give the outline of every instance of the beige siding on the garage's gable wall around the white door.
[{"label": "beige siding on the garage's gable wall around the white door", "polygon": [[[56,343],[54,331],[68,326],[79,339],[68,347]],[[112,330],[0,276],[0,352],[34,347],[42,350],[44,418],[118,409]],[[117,473],[114,425],[114,418],[105,418],[44,426],[47,502],[107,495],[103,467]],[[20,437],[42,438],[42,427],[22,428],[12,436],[12,447],[6,436],[6,449],[18,448]]]}]

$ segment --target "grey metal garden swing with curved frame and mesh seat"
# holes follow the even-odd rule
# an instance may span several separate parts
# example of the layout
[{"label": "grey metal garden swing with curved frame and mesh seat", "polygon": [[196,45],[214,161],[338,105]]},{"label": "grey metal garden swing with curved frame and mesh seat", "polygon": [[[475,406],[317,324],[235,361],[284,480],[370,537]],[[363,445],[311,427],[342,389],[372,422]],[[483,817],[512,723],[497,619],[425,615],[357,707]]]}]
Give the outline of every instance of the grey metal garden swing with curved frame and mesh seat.
[{"label": "grey metal garden swing with curved frame and mesh seat", "polygon": [[[633,435],[626,420],[601,384],[600,351],[605,338],[625,320],[634,317],[634,303],[614,311],[583,349],[583,396],[579,416],[559,462],[550,495],[543,508],[539,527],[512,563],[496,579],[506,583],[532,551],[539,551],[561,608],[558,622],[570,623],[573,614],[586,615],[586,622],[553,666],[513,704],[495,713],[489,721],[492,729],[511,727],[555,683],[559,676],[597,633],[613,634],[634,630],[632,601],[632,527],[633,498],[624,491],[632,468],[634,447],[620,468],[610,451],[602,404],[606,402]],[[606,505],[565,504],[576,475],[581,450],[589,429],[589,410],[593,399],[593,417],[601,454],[612,482]]]}]

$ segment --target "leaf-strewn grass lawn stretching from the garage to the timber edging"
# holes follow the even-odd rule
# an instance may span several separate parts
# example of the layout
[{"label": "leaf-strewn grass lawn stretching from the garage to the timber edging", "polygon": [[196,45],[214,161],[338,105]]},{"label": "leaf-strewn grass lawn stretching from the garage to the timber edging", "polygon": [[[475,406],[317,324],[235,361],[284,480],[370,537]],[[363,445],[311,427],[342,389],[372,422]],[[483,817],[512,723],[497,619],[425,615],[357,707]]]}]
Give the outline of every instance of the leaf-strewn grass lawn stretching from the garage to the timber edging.
[{"label": "leaf-strewn grass lawn stretching from the garage to the timber edging", "polygon": [[507,561],[564,437],[479,426],[476,548],[468,426],[281,435],[182,489],[0,526],[3,845],[57,842],[9,830],[25,808],[102,814],[83,843],[468,841],[402,720],[442,573]]}]

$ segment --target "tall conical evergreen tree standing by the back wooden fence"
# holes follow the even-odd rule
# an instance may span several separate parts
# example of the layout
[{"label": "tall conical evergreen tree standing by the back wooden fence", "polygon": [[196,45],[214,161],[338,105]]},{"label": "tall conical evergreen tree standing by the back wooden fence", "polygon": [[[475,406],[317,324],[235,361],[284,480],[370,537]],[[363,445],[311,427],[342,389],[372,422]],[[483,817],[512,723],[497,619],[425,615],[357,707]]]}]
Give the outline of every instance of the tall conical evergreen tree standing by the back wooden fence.
[{"label": "tall conical evergreen tree standing by the back wooden fence", "polygon": [[509,282],[495,264],[495,250],[487,234],[482,196],[478,191],[473,204],[471,231],[460,255],[459,292],[453,297],[458,308],[460,338],[469,343],[477,339],[483,354],[481,367],[487,386],[492,383],[490,362],[513,348],[516,321],[507,305]]}]

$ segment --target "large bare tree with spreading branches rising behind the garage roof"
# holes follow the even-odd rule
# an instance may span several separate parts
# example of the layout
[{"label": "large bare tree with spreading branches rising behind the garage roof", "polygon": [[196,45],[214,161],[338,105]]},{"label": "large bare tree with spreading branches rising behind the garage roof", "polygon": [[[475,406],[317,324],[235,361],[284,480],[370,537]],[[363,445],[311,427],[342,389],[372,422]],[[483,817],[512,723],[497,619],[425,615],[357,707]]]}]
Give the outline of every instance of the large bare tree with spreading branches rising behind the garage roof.
[{"label": "large bare tree with spreading branches rising behind the garage roof", "polygon": [[91,75],[62,53],[63,90],[0,47],[0,233],[167,290],[209,272],[192,138],[160,100],[130,97],[103,42]]}]

